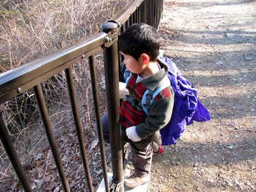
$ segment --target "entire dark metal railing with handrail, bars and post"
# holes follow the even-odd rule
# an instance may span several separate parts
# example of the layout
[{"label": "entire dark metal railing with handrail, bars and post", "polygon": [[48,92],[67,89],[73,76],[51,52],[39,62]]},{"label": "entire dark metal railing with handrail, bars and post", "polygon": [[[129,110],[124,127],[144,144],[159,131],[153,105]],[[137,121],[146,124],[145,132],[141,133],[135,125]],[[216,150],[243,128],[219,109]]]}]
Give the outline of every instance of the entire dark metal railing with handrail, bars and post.
[{"label": "entire dark metal railing with handrail, bars and post", "polygon": [[[70,96],[73,119],[77,132],[77,139],[80,146],[83,168],[85,170],[88,191],[93,191],[90,170],[85,149],[85,139],[83,137],[80,115],[76,101],[76,91],[74,87],[71,66],[75,63],[88,58],[91,75],[91,85],[93,102],[96,114],[96,124],[98,129],[102,170],[105,181],[106,191],[123,191],[123,165],[122,165],[122,145],[120,140],[120,122],[119,122],[119,51],[117,50],[117,40],[120,33],[124,32],[127,27],[133,23],[144,22],[151,26],[158,27],[163,12],[163,0],[135,0],[128,6],[121,9],[109,21],[102,24],[102,31],[77,42],[71,46],[62,48],[26,65],[14,68],[13,70],[0,74],[0,104],[11,100],[29,88],[35,91],[38,107],[42,117],[43,125],[47,135],[48,142],[51,147],[53,158],[57,167],[58,175],[64,191],[70,191],[65,171],[62,166],[60,152],[53,135],[50,117],[43,96],[41,83],[48,78],[56,75],[58,72],[65,71],[68,93]],[[113,180],[111,187],[107,179],[107,165],[104,149],[104,140],[102,134],[102,125],[100,120],[99,97],[97,92],[96,63],[94,54],[104,51],[104,67],[107,93],[107,110],[109,114],[110,126],[110,146]],[[28,177],[14,149],[11,138],[8,135],[6,124],[3,121],[2,111],[0,113],[0,137],[4,149],[6,150],[9,160],[18,176],[20,183],[25,191],[32,191]]]}]

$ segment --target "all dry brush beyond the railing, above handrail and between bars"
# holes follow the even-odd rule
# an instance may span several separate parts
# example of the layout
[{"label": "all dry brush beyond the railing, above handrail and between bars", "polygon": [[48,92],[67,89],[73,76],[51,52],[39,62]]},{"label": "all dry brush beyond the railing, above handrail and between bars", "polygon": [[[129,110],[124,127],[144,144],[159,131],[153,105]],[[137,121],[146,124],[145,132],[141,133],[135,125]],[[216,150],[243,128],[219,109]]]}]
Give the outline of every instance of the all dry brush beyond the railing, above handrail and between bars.
[{"label": "all dry brush beyond the railing, above handrail and between bars", "polygon": [[[82,38],[92,36],[99,32],[101,23],[107,21],[129,2],[131,0],[1,1],[0,72],[11,70],[33,61],[35,58],[80,41]],[[104,73],[101,52],[96,55],[96,63],[97,77],[100,80]],[[74,65],[72,73],[87,142],[86,147],[90,149],[89,144],[95,137],[95,131],[92,130],[95,115],[87,61]],[[50,80],[43,82],[42,88],[53,131],[61,149],[61,156],[68,150],[77,149],[78,151],[65,73],[60,72]],[[106,108],[106,99],[105,92],[101,88],[99,88],[99,95],[102,112]],[[2,104],[0,110],[3,111],[3,119],[18,156],[28,173],[29,180],[33,183],[36,175],[31,170],[42,166],[42,169],[48,169],[47,171],[50,172],[51,166],[54,166],[33,91],[27,90],[15,99]],[[68,141],[67,138],[69,138]],[[71,142],[75,142],[75,144],[70,144]],[[68,155],[73,156],[73,152]],[[96,155],[91,155],[99,156],[99,150],[96,151]],[[45,161],[47,161],[47,166]],[[80,160],[77,160],[77,164],[73,166],[78,164],[81,164]],[[82,180],[84,178],[76,182]],[[96,185],[97,182],[99,180],[95,180],[93,185]],[[1,142],[0,183],[0,191],[21,189]],[[75,183],[73,181],[71,183],[73,190],[77,191]],[[33,190],[46,190],[42,189],[42,183],[34,182],[33,184],[35,184]],[[50,185],[47,182],[43,184]],[[55,189],[59,185],[58,183],[56,186],[51,186],[51,189]]]}]

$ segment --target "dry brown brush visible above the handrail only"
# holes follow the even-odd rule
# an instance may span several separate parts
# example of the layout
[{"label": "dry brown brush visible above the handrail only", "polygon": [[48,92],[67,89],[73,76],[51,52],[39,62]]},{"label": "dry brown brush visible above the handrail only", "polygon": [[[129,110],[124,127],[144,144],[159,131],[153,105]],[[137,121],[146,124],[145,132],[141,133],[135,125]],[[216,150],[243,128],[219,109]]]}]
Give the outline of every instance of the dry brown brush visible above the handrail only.
[{"label": "dry brown brush visible above the handrail only", "polygon": [[6,1],[1,4],[1,71],[93,35],[129,2]]}]

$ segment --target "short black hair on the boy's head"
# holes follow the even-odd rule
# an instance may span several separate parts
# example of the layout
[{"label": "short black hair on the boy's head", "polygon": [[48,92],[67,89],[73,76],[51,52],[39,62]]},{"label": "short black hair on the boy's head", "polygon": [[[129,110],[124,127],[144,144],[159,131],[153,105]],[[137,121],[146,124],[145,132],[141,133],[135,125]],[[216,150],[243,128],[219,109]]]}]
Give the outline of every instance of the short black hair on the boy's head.
[{"label": "short black hair on the boy's head", "polygon": [[159,54],[160,35],[157,29],[145,23],[132,24],[122,33],[118,41],[119,51],[134,57],[137,61],[142,53],[155,61]]}]

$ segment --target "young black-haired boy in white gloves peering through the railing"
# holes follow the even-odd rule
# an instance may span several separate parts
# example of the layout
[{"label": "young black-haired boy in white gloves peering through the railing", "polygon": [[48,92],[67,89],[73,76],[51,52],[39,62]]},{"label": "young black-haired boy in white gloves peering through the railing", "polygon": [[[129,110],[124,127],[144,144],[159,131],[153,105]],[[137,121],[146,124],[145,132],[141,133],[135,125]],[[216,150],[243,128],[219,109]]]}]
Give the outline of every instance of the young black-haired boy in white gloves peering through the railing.
[{"label": "young black-haired boy in white gloves peering through the railing", "polygon": [[[166,80],[169,70],[163,61],[157,60],[160,35],[154,27],[133,24],[120,36],[118,47],[124,56],[121,81],[125,82],[127,72],[131,75],[125,82],[126,88],[120,87],[120,98],[129,95],[124,97],[120,108],[121,139],[130,143],[134,165],[134,174],[125,178],[124,185],[135,188],[150,180],[152,139],[155,132],[170,121],[174,92],[171,86],[164,88],[152,102],[149,115],[145,114],[141,106],[144,92],[154,90],[164,78]],[[107,115],[102,117],[102,125],[108,140]]]}]

